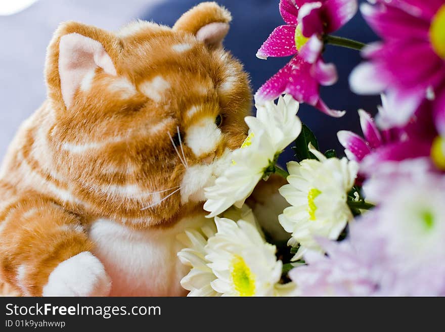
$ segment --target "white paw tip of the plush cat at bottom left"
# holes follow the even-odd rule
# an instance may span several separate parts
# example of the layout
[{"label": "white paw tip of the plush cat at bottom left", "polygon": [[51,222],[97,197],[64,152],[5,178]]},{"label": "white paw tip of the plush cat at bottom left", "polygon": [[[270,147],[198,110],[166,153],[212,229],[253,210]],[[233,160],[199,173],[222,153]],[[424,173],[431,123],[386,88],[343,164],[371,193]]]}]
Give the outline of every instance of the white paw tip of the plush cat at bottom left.
[{"label": "white paw tip of the plush cat at bottom left", "polygon": [[43,287],[43,296],[107,296],[111,279],[104,265],[84,251],[60,263]]}]

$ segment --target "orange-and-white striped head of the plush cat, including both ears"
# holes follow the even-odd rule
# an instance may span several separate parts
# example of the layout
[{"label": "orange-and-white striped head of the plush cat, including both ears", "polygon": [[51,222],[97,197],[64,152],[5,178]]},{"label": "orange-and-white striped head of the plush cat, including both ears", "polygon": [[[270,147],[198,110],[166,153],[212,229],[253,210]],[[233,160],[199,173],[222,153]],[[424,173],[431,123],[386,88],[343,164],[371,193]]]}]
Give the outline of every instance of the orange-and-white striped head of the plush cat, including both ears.
[{"label": "orange-and-white striped head of the plush cat, including both ears", "polygon": [[247,134],[251,91],[222,47],[230,13],[203,3],[172,28],[137,21],[116,33],[62,24],[46,78],[55,169],[100,215],[141,225],[204,200],[227,151]]}]

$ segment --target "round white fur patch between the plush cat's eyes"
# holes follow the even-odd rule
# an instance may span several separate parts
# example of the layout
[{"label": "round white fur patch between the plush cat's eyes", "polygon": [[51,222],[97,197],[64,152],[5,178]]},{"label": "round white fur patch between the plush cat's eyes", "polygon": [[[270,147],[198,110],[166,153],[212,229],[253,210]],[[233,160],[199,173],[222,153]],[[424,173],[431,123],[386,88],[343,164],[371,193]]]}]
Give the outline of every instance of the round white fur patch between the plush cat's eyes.
[{"label": "round white fur patch between the plush cat's eyes", "polygon": [[221,130],[216,127],[215,119],[207,117],[188,128],[186,143],[195,156],[199,157],[215,151],[221,138]]}]

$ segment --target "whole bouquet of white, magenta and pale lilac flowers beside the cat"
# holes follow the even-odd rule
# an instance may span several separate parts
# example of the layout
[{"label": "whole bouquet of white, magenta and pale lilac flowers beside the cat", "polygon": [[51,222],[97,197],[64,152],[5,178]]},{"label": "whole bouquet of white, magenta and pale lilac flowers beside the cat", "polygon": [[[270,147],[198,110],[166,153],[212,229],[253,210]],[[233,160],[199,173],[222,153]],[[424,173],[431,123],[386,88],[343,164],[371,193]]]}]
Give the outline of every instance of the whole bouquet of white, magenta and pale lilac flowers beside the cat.
[{"label": "whole bouquet of white, magenta and pale lilac flowers beside the cat", "polygon": [[[206,189],[214,227],[181,239],[191,267],[182,286],[190,296],[445,295],[445,0],[362,4],[381,37],[368,45],[332,35],[357,0],[281,0],[279,10],[285,25],[257,57],[292,58],[256,92],[247,139]],[[363,137],[338,132],[343,158],[320,151],[296,115],[299,103],[344,114],[319,93],[337,80],[327,44],[361,51],[351,90],[382,99],[375,119],[359,110]],[[282,169],[289,145],[296,160]],[[274,173],[288,182],[279,192],[290,206],[270,221],[288,232],[285,243],[243,205]]]}]

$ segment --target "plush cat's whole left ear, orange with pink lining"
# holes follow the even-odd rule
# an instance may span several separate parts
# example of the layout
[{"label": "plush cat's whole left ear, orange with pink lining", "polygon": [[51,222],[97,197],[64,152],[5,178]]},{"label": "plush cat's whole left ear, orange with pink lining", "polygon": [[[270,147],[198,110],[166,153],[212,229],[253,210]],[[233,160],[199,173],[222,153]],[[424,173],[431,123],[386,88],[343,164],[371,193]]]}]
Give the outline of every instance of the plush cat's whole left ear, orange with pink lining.
[{"label": "plush cat's whole left ear, orange with pink lining", "polygon": [[45,76],[51,101],[67,109],[82,80],[98,68],[116,75],[119,39],[112,33],[77,22],[62,23],[48,46]]}]

